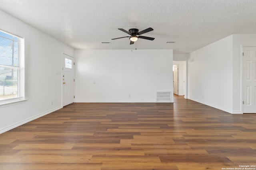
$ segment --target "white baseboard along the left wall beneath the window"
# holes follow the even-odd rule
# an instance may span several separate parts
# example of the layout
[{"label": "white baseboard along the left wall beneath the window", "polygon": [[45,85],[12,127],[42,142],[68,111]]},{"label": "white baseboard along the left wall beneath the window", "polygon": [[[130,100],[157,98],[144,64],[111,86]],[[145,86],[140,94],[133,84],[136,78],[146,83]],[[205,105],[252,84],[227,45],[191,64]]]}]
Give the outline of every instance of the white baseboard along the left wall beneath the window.
[{"label": "white baseboard along the left wall beneath the window", "polygon": [[54,109],[52,109],[52,110],[46,111],[46,112],[41,113],[41,114],[39,114],[39,115],[36,115],[36,116],[34,116],[34,117],[30,117],[29,119],[26,119],[26,120],[24,120],[24,121],[15,123],[14,125],[10,125],[10,126],[8,126],[8,127],[5,127],[5,128],[3,128],[3,129],[0,129],[0,134],[1,134],[1,133],[4,133],[4,132],[7,132],[7,131],[9,131],[9,130],[11,130],[11,129],[14,129],[15,127],[18,127],[18,126],[23,125],[23,124],[25,124],[25,123],[28,123],[28,122],[30,122],[30,121],[32,121],[32,120],[35,120],[35,119],[37,119],[37,118],[39,118],[39,117],[42,117],[42,116],[44,116],[44,115],[48,115],[49,113],[52,113],[52,112],[54,112],[54,111],[56,111],[56,110],[59,110],[59,109],[61,109],[61,108],[62,108],[62,106],[61,106],[61,107],[56,107],[56,108],[54,108]]}]

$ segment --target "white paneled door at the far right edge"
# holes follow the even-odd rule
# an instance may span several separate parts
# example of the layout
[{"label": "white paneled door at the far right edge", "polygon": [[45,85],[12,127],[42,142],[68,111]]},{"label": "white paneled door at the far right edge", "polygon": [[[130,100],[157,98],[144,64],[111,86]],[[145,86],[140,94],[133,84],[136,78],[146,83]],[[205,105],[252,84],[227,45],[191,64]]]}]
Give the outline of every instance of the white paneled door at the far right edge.
[{"label": "white paneled door at the far right edge", "polygon": [[256,47],[243,52],[243,113],[256,113]]}]

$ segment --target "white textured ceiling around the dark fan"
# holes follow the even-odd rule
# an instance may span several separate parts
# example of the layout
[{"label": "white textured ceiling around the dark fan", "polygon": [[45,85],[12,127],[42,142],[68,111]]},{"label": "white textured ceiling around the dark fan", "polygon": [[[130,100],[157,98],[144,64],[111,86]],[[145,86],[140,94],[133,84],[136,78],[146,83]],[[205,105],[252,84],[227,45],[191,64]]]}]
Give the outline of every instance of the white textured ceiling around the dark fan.
[{"label": "white textured ceiling around the dark fan", "polygon": [[[0,10],[74,49],[189,53],[232,34],[256,34],[256,0],[0,0]],[[111,40],[128,36],[118,28],[148,27],[154,31],[143,35],[154,41]]]}]

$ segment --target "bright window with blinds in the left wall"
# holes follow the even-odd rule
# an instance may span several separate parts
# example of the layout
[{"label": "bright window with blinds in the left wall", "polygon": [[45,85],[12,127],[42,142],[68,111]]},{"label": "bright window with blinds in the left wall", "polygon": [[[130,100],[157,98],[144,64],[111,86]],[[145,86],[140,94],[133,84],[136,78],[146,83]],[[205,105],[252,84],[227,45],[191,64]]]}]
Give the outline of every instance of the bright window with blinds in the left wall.
[{"label": "bright window with blinds in the left wall", "polygon": [[24,98],[24,39],[0,30],[0,104]]}]

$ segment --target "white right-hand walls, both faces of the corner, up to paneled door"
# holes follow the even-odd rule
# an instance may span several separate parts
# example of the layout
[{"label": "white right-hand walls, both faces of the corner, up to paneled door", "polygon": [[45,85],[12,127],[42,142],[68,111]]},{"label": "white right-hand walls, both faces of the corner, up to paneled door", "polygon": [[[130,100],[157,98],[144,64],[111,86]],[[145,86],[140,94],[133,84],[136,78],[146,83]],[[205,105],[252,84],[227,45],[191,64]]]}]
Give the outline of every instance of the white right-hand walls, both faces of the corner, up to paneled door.
[{"label": "white right-hand walls, both faces of the corner, up to paneled door", "polygon": [[241,53],[246,46],[256,47],[255,34],[230,35],[190,53],[188,98],[242,113]]}]

